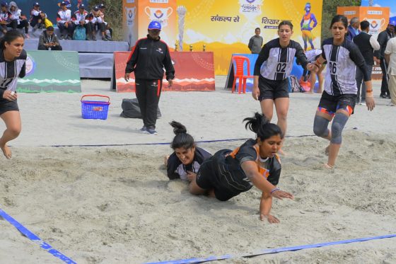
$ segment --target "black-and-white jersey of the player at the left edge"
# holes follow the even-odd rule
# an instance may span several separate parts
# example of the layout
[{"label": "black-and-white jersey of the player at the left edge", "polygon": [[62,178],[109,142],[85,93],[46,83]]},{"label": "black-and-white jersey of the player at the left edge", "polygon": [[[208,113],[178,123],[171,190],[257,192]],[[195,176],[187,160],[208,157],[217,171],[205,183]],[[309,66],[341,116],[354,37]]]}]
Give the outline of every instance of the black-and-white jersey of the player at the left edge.
[{"label": "black-and-white jersey of the player at the left edge", "polygon": [[0,49],[0,96],[6,90],[15,91],[18,77],[25,76],[25,62],[27,54],[22,50],[21,55],[12,62],[6,62],[4,59],[4,50]]}]

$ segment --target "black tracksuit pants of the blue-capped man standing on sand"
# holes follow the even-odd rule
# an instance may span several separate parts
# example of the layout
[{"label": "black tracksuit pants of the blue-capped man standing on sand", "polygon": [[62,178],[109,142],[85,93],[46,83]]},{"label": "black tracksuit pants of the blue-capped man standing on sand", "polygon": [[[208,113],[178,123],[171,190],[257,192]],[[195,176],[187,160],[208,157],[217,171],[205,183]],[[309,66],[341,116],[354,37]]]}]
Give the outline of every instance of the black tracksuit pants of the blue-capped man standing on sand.
[{"label": "black tracksuit pants of the blue-capped man standing on sand", "polygon": [[139,102],[141,118],[147,128],[156,128],[158,102],[162,90],[161,80],[136,79],[136,98]]}]

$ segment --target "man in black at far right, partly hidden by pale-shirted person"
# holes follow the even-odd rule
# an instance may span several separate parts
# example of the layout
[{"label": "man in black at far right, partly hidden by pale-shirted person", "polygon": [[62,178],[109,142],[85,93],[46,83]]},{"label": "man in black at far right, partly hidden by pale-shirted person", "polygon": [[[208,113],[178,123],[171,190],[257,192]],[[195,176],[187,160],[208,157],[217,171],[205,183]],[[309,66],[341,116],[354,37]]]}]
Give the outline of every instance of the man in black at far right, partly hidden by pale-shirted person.
[{"label": "man in black at far right, partly hidden by pale-shirted person", "polygon": [[389,98],[389,89],[388,89],[388,64],[385,61],[385,48],[388,43],[388,40],[394,37],[395,34],[395,26],[396,21],[389,21],[388,28],[383,30],[378,35],[378,43],[380,43],[380,50],[375,52],[375,57],[380,60],[381,71],[383,72],[383,82],[381,83],[381,93],[380,98]]}]

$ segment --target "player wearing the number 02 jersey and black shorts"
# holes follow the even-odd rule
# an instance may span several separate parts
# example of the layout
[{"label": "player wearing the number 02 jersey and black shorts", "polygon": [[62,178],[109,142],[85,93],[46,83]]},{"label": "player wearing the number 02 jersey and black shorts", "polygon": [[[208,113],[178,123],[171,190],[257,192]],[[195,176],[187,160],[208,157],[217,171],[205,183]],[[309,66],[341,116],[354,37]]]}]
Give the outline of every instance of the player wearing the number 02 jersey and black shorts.
[{"label": "player wearing the number 02 jersey and black shorts", "polygon": [[291,40],[293,24],[282,21],[278,27],[279,38],[267,42],[255,64],[252,96],[260,101],[262,113],[272,119],[275,104],[278,125],[286,134],[289,110],[289,80],[293,59],[297,57],[304,69],[314,68],[305,57],[303,48]]}]

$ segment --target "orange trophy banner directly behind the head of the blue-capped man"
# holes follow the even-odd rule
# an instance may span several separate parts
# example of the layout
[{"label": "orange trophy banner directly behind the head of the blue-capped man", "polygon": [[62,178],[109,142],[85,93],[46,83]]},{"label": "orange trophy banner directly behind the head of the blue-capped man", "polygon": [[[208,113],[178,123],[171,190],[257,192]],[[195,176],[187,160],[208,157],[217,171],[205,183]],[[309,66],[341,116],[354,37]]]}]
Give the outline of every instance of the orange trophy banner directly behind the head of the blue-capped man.
[{"label": "orange trophy banner directly behind the head of the blue-capped man", "polygon": [[132,47],[147,35],[151,21],[161,23],[161,40],[172,50],[176,40],[176,0],[123,0],[124,40]]}]

